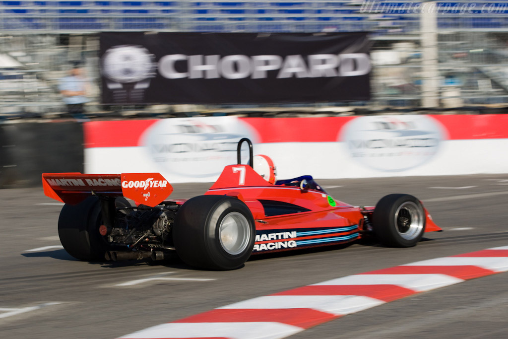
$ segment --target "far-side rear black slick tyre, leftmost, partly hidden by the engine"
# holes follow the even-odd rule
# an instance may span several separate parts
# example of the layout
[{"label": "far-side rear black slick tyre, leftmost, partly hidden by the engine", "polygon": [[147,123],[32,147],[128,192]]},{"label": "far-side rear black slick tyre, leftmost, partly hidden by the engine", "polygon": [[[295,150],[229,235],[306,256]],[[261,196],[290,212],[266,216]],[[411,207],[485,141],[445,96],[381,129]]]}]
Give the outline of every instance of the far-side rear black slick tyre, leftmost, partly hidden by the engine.
[{"label": "far-side rear black slick tyre, leftmost, partly hidden by the engine", "polygon": [[[131,206],[123,197],[116,198],[115,205],[117,208]],[[63,248],[79,260],[104,260],[111,246],[99,233],[101,224],[98,197],[88,197],[77,205],[63,205],[58,218],[58,236]]]}]

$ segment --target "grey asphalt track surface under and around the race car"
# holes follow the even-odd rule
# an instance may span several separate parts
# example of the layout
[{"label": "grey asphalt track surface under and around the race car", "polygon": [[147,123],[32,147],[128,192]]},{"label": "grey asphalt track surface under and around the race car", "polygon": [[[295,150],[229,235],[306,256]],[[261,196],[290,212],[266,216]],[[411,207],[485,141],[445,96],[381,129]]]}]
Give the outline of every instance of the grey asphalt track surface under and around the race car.
[{"label": "grey asphalt track surface under and around the race car", "polygon": [[[115,338],[341,276],[508,245],[508,175],[317,181],[354,205],[375,205],[389,193],[415,195],[444,232],[427,233],[409,249],[366,242],[257,256],[234,271],[196,270],[178,258],[89,263],[47,247],[60,245],[61,205],[41,189],[0,190],[0,337]],[[210,184],[174,186],[172,197],[189,198]],[[409,296],[291,338],[505,338],[507,279],[499,273]]]}]

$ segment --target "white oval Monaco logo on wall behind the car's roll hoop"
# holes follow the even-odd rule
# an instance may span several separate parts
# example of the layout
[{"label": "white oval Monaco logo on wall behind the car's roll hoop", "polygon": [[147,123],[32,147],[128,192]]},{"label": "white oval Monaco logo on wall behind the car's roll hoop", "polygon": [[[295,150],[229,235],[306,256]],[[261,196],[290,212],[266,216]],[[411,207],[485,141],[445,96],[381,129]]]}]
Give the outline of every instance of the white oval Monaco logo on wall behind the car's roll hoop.
[{"label": "white oval Monaco logo on wall behind the car's roll hoop", "polygon": [[[141,143],[163,170],[199,178],[217,176],[225,166],[236,164],[237,144],[244,137],[258,140],[257,133],[234,116],[171,118],[156,122]],[[245,164],[247,150],[242,157]]]}]

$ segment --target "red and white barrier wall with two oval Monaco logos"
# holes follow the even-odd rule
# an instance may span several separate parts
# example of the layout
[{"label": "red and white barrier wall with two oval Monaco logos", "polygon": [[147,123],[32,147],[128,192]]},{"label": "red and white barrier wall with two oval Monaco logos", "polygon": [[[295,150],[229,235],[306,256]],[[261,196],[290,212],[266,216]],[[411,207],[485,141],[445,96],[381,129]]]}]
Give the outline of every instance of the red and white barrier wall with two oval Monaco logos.
[{"label": "red and white barrier wall with two oval Monaco logos", "polygon": [[502,114],[92,121],[84,124],[85,172],[211,182],[236,163],[242,137],[273,159],[281,179],[508,173]]}]

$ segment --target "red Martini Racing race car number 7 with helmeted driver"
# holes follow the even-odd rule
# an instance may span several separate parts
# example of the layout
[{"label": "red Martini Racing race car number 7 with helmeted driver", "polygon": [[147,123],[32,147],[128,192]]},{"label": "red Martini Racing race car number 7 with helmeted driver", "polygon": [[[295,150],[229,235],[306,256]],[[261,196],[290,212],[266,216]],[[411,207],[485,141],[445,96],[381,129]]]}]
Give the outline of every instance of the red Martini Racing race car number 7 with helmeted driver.
[{"label": "red Martini Racing race car number 7 with helmeted driver", "polygon": [[[241,145],[249,164],[240,163]],[[63,248],[80,260],[164,259],[235,269],[251,254],[288,251],[377,236],[388,246],[414,246],[440,231],[421,201],[390,194],[374,207],[333,199],[311,176],[275,181],[266,156],[252,156],[244,138],[238,164],[226,166],[204,195],[166,200],[171,184],[159,173],[45,173],[44,192],[65,202],[58,219]],[[132,206],[126,198],[136,202]]]}]

